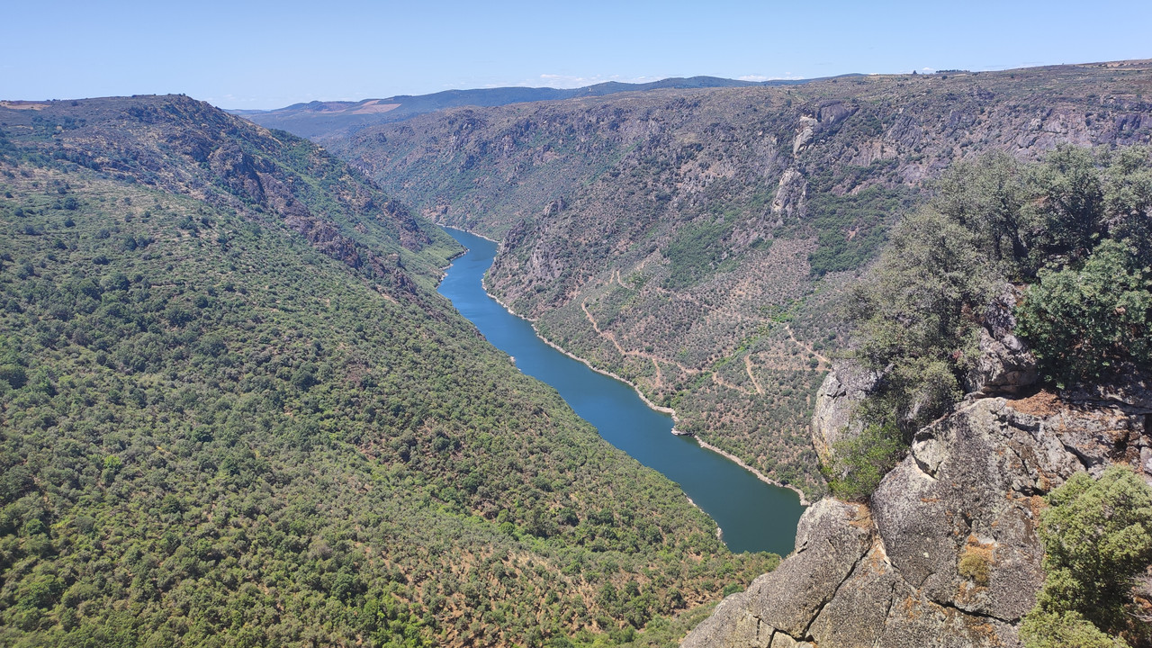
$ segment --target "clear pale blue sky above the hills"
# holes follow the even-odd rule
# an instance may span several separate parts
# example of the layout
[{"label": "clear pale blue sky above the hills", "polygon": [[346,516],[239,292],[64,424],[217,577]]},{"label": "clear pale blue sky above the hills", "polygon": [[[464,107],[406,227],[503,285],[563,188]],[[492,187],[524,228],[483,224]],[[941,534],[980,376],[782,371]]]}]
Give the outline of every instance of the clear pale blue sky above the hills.
[{"label": "clear pale blue sky above the hills", "polygon": [[9,2],[0,99],[222,107],[452,88],[795,78],[1152,58],[1152,2]]}]

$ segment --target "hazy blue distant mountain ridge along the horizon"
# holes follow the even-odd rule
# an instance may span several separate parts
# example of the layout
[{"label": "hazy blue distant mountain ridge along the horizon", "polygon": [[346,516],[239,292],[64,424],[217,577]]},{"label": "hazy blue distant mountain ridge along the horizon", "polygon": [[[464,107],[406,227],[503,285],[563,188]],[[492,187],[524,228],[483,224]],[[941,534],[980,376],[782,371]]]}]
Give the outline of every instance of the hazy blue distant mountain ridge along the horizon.
[{"label": "hazy blue distant mountain ridge along the horizon", "polygon": [[[846,75],[858,76],[858,75]],[[494,107],[528,101],[554,101],[578,97],[604,97],[620,92],[665,89],[746,88],[751,85],[795,85],[816,80],[737,81],[717,76],[662,78],[651,83],[597,83],[584,88],[484,88],[446,90],[432,95],[400,95],[362,101],[310,101],[274,111],[228,111],[267,128],[279,128],[316,141],[341,138],[365,126],[406,119],[460,106]]]}]

